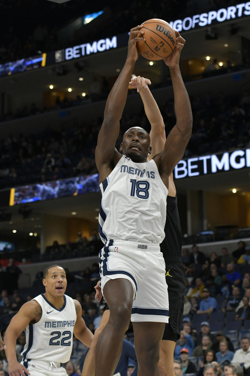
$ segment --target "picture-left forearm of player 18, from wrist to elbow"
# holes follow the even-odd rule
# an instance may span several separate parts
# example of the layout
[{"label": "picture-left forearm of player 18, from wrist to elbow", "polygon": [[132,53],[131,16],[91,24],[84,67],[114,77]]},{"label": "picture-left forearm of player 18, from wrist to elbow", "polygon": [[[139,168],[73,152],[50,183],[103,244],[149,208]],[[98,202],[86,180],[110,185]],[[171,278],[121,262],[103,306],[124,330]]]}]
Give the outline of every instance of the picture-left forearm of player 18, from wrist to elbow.
[{"label": "picture-left forearm of player 18, from wrist to elbow", "polygon": [[135,62],[132,59],[126,60],[118,79],[115,81],[115,84],[109,93],[105,106],[104,118],[108,117],[112,119],[112,122],[114,123],[121,119],[127,99],[127,88],[134,66]]}]

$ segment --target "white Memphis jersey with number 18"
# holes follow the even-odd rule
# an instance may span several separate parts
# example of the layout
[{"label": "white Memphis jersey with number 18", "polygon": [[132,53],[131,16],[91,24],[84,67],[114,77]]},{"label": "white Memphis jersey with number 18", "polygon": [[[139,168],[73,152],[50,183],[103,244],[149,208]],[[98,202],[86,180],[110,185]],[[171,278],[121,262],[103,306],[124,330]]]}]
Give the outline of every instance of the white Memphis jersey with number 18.
[{"label": "white Memphis jersey with number 18", "polygon": [[100,184],[100,191],[98,229],[103,243],[112,239],[163,241],[168,189],[153,159],[136,163],[123,155]]}]

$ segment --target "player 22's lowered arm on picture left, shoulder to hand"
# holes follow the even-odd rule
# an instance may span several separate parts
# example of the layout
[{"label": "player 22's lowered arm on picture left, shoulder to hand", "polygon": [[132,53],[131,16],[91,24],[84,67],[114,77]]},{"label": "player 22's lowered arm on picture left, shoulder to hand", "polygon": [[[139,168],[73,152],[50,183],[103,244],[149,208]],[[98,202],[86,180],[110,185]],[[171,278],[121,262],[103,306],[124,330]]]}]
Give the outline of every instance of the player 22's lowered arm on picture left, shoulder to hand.
[{"label": "player 22's lowered arm on picture left, shoulder to hand", "polygon": [[16,359],[16,339],[28,324],[38,322],[41,317],[42,308],[34,300],[25,303],[18,313],[12,317],[4,335],[9,376],[19,376],[20,374],[25,376],[24,372],[30,374]]}]

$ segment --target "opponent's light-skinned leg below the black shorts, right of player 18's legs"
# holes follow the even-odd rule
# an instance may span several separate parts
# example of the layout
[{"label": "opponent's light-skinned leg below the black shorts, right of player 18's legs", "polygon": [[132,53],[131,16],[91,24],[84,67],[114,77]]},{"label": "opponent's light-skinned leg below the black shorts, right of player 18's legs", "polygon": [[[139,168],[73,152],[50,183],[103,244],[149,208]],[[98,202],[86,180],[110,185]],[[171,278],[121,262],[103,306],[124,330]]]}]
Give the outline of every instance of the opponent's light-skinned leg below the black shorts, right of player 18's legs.
[{"label": "opponent's light-skinned leg below the black shorts, right of player 18's legs", "polygon": [[176,342],[162,340],[160,342],[160,360],[158,363],[160,376],[175,376],[174,349]]}]

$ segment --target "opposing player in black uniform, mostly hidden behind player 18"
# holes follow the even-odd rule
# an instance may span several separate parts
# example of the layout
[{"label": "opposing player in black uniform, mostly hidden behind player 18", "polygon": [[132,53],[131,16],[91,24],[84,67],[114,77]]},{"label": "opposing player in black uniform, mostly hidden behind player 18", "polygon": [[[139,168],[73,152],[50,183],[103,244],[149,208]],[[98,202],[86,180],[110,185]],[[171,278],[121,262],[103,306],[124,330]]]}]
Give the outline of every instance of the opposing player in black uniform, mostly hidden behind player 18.
[{"label": "opposing player in black uniform, mostly hidden behind player 18", "polygon": [[[177,55],[177,54],[176,54]],[[179,63],[179,56],[173,55],[167,59],[173,59],[173,64]],[[133,77],[129,86],[137,88],[144,103],[145,112],[151,124],[151,156],[164,149],[166,134],[162,115],[147,84],[150,80],[143,77]],[[149,158],[151,158],[151,156]],[[167,197],[167,215],[165,225],[165,240],[160,244],[166,263],[166,282],[169,294],[169,325],[166,324],[162,341],[160,343],[160,376],[173,376],[174,373],[174,348],[180,338],[180,323],[183,315],[184,293],[186,290],[185,273],[181,262],[181,227],[177,209],[177,196],[173,175],[169,176],[169,188]],[[102,293],[99,283],[96,286],[96,299],[100,301]],[[107,307],[108,308],[108,307]],[[82,369],[82,376],[94,376],[95,373],[95,347],[100,333],[109,320],[109,309],[106,309],[100,326],[96,329],[90,350],[86,356]]]}]

